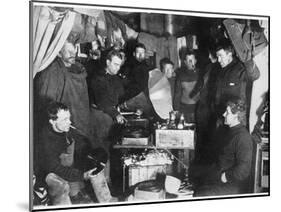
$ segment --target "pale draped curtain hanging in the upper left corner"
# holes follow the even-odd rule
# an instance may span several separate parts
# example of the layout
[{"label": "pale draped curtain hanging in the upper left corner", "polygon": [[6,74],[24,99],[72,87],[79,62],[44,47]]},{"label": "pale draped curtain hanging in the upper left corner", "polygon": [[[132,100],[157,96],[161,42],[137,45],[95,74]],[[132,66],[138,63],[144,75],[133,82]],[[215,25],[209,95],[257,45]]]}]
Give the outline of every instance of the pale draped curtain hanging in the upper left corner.
[{"label": "pale draped curtain hanging in the upper left corner", "polygon": [[46,6],[33,8],[33,77],[55,59],[66,41],[75,18],[69,10]]}]

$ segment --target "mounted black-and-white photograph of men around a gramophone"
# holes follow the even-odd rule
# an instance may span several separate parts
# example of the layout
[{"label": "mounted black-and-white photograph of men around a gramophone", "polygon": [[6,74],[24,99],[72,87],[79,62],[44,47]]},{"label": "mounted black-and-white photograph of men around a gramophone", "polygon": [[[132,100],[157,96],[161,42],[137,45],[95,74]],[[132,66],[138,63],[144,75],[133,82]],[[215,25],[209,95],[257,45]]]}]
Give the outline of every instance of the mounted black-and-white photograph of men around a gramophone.
[{"label": "mounted black-and-white photograph of men around a gramophone", "polygon": [[184,9],[29,2],[30,210],[270,195],[270,17]]}]

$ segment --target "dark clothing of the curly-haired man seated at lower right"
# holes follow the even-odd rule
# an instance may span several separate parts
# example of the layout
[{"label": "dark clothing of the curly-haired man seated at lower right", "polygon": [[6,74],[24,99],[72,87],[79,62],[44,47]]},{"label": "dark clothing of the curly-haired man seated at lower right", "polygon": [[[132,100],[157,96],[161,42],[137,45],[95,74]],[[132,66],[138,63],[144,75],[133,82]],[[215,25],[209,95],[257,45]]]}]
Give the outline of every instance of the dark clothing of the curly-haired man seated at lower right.
[{"label": "dark clothing of the curly-haired man seated at lower right", "polygon": [[[191,167],[190,176],[196,185],[194,196],[217,196],[247,193],[251,173],[253,142],[247,129],[239,124],[221,128],[213,153],[216,163]],[[221,181],[222,173],[226,183]]]}]

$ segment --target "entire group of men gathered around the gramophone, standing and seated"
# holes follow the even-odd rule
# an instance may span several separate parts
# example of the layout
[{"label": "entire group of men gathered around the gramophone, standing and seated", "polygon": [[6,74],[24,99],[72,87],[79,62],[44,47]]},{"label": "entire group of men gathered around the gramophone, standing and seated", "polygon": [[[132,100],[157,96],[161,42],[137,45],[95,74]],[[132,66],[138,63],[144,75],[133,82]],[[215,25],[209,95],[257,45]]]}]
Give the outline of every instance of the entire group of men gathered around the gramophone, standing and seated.
[{"label": "entire group of men gathered around the gramophone, standing and seated", "polygon": [[[112,48],[102,59],[103,54],[97,54],[98,51],[98,48],[93,50],[96,54],[90,60],[99,61],[87,61],[85,69],[75,61],[74,45],[66,41],[55,61],[34,79],[35,172],[42,175],[49,187],[53,181],[50,182],[48,176],[55,174],[63,186],[55,184],[53,196],[67,193],[72,202],[77,195],[85,197],[81,182],[89,179],[94,169],[83,165],[88,164],[86,156],[98,155],[96,164],[105,166],[112,146],[110,134],[116,126],[115,132],[118,132],[118,126],[126,122],[118,108],[126,107],[127,100],[142,92],[147,94],[152,69],[146,63],[143,44],[135,46],[133,60],[128,61],[120,49]],[[218,154],[220,163],[216,166],[216,175],[220,173],[220,176],[216,180],[235,187],[249,177],[251,164],[251,139],[243,126],[244,118],[241,118],[246,110],[248,79],[243,64],[234,57],[230,43],[222,42],[215,52],[216,55],[210,49],[211,63],[204,72],[196,65],[194,51],[185,54],[178,70],[174,70],[174,63],[168,58],[160,61],[160,69],[170,82],[174,109],[182,112],[186,121],[196,122],[198,132],[204,135],[199,136],[198,147],[205,145],[204,140],[210,136],[209,127],[217,126],[224,114],[229,129],[225,131],[227,142]],[[98,64],[98,68],[93,64]],[[118,75],[120,69],[124,77]],[[87,72],[90,78],[87,78]],[[217,129],[215,127],[214,131]],[[36,135],[37,131],[39,135]],[[102,148],[97,151],[96,147]],[[196,173],[200,169],[194,170]],[[200,181],[200,185],[203,184]]]}]

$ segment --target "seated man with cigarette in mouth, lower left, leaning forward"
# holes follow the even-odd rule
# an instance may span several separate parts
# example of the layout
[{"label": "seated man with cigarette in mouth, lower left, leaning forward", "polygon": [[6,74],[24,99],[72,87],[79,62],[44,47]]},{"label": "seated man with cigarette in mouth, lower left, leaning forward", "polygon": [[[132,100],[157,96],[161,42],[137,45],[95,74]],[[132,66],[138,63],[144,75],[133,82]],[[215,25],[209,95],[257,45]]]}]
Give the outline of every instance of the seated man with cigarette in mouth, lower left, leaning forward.
[{"label": "seated man with cigarette in mouth, lower left, leaning forward", "polygon": [[71,129],[67,106],[52,102],[47,113],[49,124],[35,145],[35,164],[40,167],[36,174],[47,183],[52,204],[90,203],[84,181],[95,168],[104,168],[107,155],[91,149],[87,138]]}]

